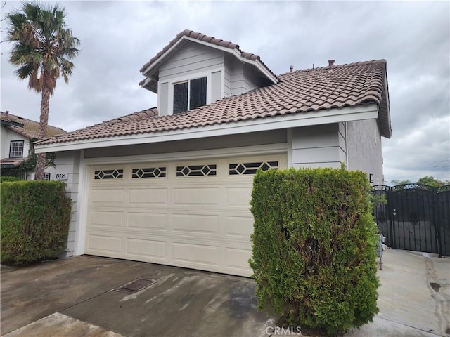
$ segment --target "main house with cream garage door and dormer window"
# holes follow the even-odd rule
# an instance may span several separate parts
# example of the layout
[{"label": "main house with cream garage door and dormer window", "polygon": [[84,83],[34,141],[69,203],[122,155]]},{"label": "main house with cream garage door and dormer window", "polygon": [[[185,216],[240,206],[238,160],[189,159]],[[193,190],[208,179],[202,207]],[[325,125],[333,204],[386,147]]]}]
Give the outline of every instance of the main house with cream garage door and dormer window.
[{"label": "main house with cream garage door and dormer window", "polygon": [[186,30],[141,72],[158,108],[37,143],[57,152],[76,201],[68,255],[250,276],[258,168],[344,163],[383,183],[385,60],[276,76],[238,45]]}]

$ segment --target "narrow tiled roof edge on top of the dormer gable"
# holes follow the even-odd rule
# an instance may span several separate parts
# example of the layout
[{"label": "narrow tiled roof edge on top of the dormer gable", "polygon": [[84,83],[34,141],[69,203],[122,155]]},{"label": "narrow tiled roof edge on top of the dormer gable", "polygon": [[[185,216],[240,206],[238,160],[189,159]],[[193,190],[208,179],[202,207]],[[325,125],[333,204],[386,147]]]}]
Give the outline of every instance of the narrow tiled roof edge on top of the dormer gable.
[{"label": "narrow tiled roof edge on top of the dormer gable", "polygon": [[[276,77],[276,74],[274,74],[269,69],[269,67],[267,67],[266,64],[264,62],[262,62],[261,58],[259,58],[258,55],[248,53],[246,51],[241,51],[239,48],[239,45],[233,44],[233,42],[216,39],[215,37],[208,37],[205,34],[202,34],[199,32],[194,32],[193,30],[189,30],[189,29],[184,29],[183,32],[180,32],[179,34],[177,34],[176,37],[174,39],[172,39],[172,41],[170,41],[169,44],[167,44],[167,46],[162,48],[162,50],[160,52],[158,52],[155,56],[153,56],[153,58],[151,58],[145,65],[143,65],[141,70],[139,70],[139,71],[144,72],[144,70],[146,70],[146,68],[148,68],[150,65],[153,65],[153,63],[158,61],[162,57],[162,55],[164,55],[182,37],[191,37],[192,39],[198,39],[199,41],[205,41],[209,44],[214,44],[216,46],[221,46],[221,47],[230,48],[230,49],[236,49],[240,53],[240,56],[242,58],[252,60],[252,61],[258,60],[259,62],[261,62],[263,67],[266,68],[266,70],[268,70],[272,75],[274,75],[274,77]],[[145,80],[139,82],[139,85],[142,85],[144,82],[145,82]]]}]

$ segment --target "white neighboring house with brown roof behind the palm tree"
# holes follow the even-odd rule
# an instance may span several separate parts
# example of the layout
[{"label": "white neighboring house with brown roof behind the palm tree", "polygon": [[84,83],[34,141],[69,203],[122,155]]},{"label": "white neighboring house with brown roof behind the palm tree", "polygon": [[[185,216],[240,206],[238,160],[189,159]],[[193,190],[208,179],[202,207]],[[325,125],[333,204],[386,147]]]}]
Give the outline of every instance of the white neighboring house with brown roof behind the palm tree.
[{"label": "white neighboring house with brown roof behind the palm tree", "polygon": [[[39,122],[30,121],[23,117],[10,114],[8,111],[1,114],[1,176],[16,176],[23,180],[33,180],[34,173],[18,172],[20,164],[27,160],[28,152],[39,136]],[[65,133],[61,128],[48,126],[47,137]],[[55,178],[55,168],[45,169],[46,180]]]}]

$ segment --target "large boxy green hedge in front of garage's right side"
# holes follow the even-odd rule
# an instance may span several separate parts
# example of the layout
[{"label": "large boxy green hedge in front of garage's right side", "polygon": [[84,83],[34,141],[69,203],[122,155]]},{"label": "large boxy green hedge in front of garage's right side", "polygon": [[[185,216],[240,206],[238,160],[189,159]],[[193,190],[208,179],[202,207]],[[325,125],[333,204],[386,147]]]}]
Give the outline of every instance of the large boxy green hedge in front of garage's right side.
[{"label": "large boxy green hedge in front of garage's right side", "polygon": [[259,308],[284,325],[329,334],[371,322],[378,312],[370,186],[345,169],[259,171],[250,266]]}]

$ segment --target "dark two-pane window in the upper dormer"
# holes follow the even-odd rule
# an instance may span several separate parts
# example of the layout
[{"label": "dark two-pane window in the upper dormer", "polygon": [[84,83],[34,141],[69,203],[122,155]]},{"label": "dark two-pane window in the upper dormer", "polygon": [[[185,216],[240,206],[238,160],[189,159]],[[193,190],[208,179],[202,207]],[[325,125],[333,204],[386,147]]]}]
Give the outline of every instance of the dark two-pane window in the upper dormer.
[{"label": "dark two-pane window in the upper dormer", "polygon": [[174,114],[206,104],[206,77],[174,84]]}]

